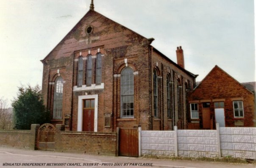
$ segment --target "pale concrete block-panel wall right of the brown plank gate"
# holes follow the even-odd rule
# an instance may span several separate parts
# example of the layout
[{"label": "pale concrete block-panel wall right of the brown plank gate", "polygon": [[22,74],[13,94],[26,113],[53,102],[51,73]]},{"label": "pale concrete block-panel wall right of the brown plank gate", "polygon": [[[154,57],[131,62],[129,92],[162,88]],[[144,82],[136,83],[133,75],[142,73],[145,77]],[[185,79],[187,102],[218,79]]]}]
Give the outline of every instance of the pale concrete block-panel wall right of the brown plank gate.
[{"label": "pale concrete block-panel wall right of the brown plank gate", "polygon": [[141,154],[167,157],[232,157],[256,160],[256,128],[142,131]]}]

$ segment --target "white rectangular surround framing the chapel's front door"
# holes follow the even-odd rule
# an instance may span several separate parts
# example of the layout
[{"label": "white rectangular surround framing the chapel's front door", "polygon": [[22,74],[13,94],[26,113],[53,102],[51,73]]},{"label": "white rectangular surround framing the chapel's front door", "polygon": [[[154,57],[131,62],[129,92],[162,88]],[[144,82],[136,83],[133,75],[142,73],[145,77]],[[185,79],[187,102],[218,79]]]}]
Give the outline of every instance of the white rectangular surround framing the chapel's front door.
[{"label": "white rectangular surround framing the chapel's front door", "polygon": [[83,129],[83,100],[84,99],[95,99],[94,107],[94,132],[97,132],[97,120],[98,120],[98,95],[83,95],[78,96],[78,115],[77,115],[77,131],[82,131]]}]

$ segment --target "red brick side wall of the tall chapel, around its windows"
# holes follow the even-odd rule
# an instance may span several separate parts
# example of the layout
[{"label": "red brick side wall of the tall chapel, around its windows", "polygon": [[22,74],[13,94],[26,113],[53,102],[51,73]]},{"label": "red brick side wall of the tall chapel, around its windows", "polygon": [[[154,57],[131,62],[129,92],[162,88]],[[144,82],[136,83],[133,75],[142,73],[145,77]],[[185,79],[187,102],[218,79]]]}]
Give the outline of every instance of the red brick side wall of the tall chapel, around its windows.
[{"label": "red brick side wall of the tall chapel, around its windows", "polygon": [[[175,53],[175,52],[173,52]],[[167,58],[164,58],[159,52],[153,51],[152,54],[152,74],[153,69],[158,69],[158,76],[160,79],[158,89],[158,104],[159,104],[159,118],[153,118],[154,130],[170,130],[173,129],[173,124],[177,125],[179,129],[186,129],[186,87],[185,83],[189,81],[190,88],[193,89],[195,78],[184,72],[184,70],[171,63]],[[167,117],[167,75],[170,75],[173,82],[173,111],[174,118]],[[177,80],[181,81],[182,99],[181,99],[181,119],[178,119],[178,95],[177,95]],[[153,90],[153,85],[151,86]],[[152,96],[152,95],[151,95]],[[173,123],[174,122],[174,123]]]}]

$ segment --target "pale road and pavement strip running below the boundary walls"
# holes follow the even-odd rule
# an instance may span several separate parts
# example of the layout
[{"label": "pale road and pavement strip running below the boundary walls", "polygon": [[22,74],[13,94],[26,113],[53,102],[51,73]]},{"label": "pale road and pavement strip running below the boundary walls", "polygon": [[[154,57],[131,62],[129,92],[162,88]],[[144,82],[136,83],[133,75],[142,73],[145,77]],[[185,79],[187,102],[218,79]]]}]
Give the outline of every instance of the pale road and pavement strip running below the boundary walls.
[{"label": "pale road and pavement strip running below the boundary walls", "polygon": [[114,157],[0,147],[0,168],[256,168],[255,164]]}]

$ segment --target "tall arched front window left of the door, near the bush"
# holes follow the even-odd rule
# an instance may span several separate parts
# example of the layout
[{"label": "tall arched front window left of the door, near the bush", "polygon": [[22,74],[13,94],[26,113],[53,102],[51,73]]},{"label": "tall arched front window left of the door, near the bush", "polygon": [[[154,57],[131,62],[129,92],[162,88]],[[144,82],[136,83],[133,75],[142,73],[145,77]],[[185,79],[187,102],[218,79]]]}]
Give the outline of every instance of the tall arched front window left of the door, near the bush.
[{"label": "tall arched front window left of the door, near the bush", "polygon": [[57,77],[54,85],[53,119],[62,118],[63,79]]}]

